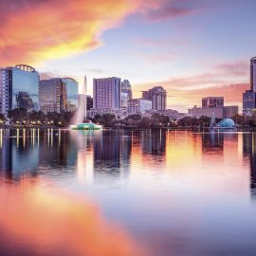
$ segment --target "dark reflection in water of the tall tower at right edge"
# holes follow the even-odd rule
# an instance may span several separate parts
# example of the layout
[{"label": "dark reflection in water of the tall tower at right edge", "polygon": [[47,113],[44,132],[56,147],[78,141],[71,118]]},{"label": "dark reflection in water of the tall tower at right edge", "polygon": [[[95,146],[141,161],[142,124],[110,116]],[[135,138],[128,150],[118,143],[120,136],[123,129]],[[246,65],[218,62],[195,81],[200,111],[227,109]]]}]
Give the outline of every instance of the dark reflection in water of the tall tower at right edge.
[{"label": "dark reflection in water of the tall tower at right edge", "polygon": [[254,133],[243,133],[243,152],[249,157],[250,163],[250,192],[256,198],[256,137]]}]

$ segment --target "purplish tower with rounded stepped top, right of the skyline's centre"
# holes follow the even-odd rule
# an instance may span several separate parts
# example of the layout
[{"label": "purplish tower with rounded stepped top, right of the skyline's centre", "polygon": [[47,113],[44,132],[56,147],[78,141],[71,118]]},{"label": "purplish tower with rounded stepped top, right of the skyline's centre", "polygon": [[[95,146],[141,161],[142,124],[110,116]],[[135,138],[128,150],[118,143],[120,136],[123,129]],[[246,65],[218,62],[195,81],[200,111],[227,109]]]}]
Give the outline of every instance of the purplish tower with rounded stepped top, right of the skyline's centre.
[{"label": "purplish tower with rounded stepped top, right of the skyline's centre", "polygon": [[142,99],[152,101],[153,110],[166,110],[166,90],[162,86],[155,86],[142,92]]}]

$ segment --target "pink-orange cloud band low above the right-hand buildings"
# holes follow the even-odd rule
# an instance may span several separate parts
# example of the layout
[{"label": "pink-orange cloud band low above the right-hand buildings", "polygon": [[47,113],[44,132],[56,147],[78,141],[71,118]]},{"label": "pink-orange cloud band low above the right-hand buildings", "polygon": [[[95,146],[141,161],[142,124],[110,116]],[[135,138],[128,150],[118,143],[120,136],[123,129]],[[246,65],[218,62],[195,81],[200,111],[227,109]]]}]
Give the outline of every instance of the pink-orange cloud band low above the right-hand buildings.
[{"label": "pink-orange cloud band low above the right-hand buildings", "polygon": [[[170,78],[166,81],[137,84],[135,87],[147,90],[162,85],[168,91],[168,107],[178,106],[186,112],[192,105],[201,105],[201,99],[208,96],[223,96],[227,105],[242,103],[243,92],[249,88],[248,64],[243,61],[213,65],[210,72],[191,77]],[[135,96],[141,93],[135,90]]]}]

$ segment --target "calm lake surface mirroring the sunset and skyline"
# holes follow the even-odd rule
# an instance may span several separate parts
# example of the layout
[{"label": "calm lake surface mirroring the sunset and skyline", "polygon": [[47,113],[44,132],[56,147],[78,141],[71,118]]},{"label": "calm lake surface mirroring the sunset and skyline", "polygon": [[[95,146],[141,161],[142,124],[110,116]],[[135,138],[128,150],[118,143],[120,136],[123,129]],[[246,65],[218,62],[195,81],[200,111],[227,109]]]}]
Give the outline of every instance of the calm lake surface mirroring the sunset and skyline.
[{"label": "calm lake surface mirroring the sunset and skyline", "polygon": [[0,130],[0,255],[256,255],[256,134]]}]

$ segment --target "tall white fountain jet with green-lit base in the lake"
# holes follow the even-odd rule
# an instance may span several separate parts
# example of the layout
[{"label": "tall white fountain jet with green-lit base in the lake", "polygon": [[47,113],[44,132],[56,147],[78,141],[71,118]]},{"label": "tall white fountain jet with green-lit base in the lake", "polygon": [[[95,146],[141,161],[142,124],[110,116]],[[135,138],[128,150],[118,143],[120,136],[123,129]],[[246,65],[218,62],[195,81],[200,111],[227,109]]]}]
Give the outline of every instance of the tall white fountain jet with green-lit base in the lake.
[{"label": "tall white fountain jet with green-lit base in the lake", "polygon": [[72,119],[70,125],[71,130],[101,130],[102,126],[100,124],[95,124],[91,120],[87,119],[87,109],[86,109],[86,91],[87,91],[87,80],[84,76],[84,82],[82,87],[82,93],[79,94],[78,110],[75,117]]}]

